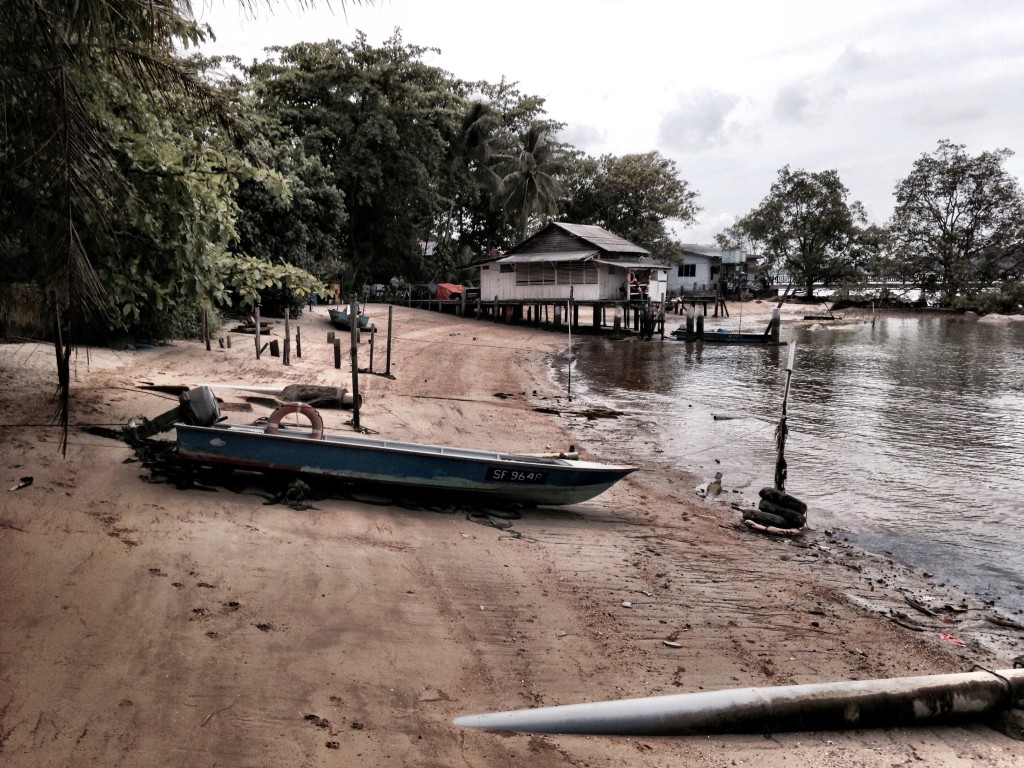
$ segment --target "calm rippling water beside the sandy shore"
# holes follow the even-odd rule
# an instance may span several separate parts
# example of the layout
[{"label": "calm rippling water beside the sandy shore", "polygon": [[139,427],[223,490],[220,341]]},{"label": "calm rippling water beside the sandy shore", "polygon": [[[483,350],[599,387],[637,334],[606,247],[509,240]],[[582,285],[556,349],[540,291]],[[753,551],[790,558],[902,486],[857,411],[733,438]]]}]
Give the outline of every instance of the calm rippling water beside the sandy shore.
[{"label": "calm rippling water beside the sandy shore", "polygon": [[[786,489],[808,524],[1024,610],[1024,324],[883,318],[782,339],[797,342]],[[772,483],[785,346],[585,338],[573,352],[573,396],[629,413],[594,427],[606,456],[721,471],[750,500]]]}]

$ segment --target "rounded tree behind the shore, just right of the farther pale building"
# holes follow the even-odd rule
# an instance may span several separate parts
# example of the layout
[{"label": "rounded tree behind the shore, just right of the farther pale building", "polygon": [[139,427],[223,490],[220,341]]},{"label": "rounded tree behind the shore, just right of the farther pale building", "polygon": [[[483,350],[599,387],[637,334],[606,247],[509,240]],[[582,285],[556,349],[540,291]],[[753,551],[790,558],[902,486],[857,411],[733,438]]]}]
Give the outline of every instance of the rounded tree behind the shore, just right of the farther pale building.
[{"label": "rounded tree behind the shore, just right of the farther pale building", "polygon": [[784,265],[812,298],[815,283],[833,285],[849,274],[849,249],[866,216],[859,202],[847,202],[848,196],[837,171],[784,166],[768,197],[732,229],[761,244],[768,268]]}]

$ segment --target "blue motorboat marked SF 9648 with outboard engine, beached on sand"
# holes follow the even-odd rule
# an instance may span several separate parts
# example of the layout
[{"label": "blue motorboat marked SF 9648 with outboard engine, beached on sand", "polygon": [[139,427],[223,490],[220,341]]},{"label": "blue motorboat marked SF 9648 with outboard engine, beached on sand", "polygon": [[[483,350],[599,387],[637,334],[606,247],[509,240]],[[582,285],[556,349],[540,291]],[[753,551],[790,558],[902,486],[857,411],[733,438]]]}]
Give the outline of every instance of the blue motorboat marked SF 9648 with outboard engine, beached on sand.
[{"label": "blue motorboat marked SF 9648 with outboard engine, beached on sand", "polygon": [[[472,496],[497,503],[577,504],[607,490],[637,467],[548,456],[431,445],[358,434],[325,434],[316,410],[305,402],[279,408],[265,426],[221,422],[209,387],[182,392],[181,404],[141,425],[129,440],[174,429],[180,459],[264,472],[295,472],[347,483]],[[282,423],[292,414],[310,427]]]}]

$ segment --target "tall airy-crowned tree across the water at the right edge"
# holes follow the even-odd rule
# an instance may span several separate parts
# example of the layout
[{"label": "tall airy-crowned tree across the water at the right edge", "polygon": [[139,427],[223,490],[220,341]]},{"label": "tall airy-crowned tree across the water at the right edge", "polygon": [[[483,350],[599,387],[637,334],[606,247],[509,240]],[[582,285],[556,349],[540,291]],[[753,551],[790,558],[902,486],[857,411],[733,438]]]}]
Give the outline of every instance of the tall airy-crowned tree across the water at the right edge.
[{"label": "tall airy-crowned tree across the water at the right edge", "polygon": [[951,304],[1024,268],[1024,198],[1005,163],[1010,150],[972,157],[939,141],[896,185],[893,252],[925,293]]}]

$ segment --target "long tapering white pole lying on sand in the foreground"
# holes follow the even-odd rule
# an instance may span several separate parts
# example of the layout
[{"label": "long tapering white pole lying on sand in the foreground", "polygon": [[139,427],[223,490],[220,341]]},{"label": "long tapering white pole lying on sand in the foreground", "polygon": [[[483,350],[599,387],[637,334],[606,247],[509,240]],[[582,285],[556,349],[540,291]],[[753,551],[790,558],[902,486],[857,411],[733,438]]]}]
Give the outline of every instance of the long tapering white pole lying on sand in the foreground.
[{"label": "long tapering white pole lying on sand in the foreground", "polygon": [[955,719],[1002,710],[1022,698],[1024,670],[1006,670],[544,707],[467,715],[455,724],[536,733],[763,733]]}]

